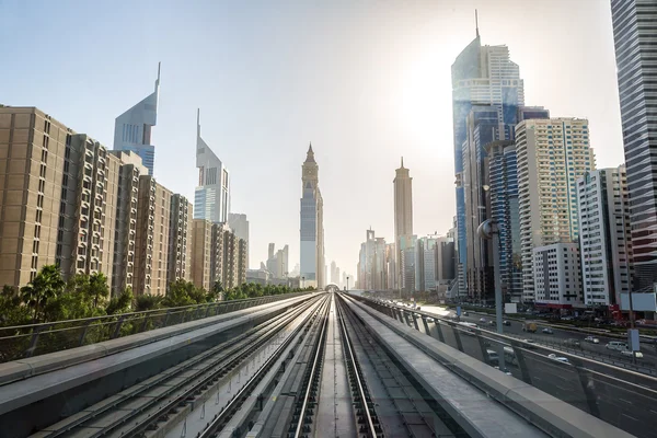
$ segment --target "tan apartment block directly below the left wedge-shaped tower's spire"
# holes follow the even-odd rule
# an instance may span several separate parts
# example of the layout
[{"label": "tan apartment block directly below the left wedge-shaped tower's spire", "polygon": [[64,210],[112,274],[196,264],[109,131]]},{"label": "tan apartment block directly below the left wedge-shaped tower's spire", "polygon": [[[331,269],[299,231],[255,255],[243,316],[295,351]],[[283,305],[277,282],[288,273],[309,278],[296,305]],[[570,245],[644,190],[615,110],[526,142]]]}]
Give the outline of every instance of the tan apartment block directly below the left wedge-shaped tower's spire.
[{"label": "tan apartment block directly below the left wedge-shaped tower's spire", "polygon": [[166,293],[171,195],[171,191],[157,183],[152,175],[139,176],[135,239],[136,295]]}]

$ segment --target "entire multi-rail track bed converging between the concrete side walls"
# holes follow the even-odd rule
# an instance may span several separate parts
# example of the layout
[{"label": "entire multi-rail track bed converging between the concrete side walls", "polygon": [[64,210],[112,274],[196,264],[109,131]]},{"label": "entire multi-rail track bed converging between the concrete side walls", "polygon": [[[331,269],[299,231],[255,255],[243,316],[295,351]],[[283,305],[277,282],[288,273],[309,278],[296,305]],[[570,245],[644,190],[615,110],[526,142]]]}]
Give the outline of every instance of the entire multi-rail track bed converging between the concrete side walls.
[{"label": "entire multi-rail track bed converging between the concrete side walls", "polygon": [[38,437],[466,437],[349,302],[306,301]]}]

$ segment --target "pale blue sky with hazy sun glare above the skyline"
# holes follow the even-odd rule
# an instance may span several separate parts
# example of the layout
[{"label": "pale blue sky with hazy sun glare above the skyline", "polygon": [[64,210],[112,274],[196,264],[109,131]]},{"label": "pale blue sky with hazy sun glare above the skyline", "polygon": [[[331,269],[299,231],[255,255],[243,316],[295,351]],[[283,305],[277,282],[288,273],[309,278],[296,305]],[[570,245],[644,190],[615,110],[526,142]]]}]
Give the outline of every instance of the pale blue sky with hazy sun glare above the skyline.
[{"label": "pale blue sky with hazy sun glare above the skyline", "polygon": [[589,119],[598,168],[624,160],[608,0],[0,0],[0,103],[37,106],[108,148],[114,119],[162,62],[154,176],[194,198],[196,108],[250,220],[299,261],[312,141],[326,264],[356,273],[370,227],[393,240],[394,170],[413,177],[414,232],[456,214],[450,67],[474,38],[507,45],[526,104]]}]

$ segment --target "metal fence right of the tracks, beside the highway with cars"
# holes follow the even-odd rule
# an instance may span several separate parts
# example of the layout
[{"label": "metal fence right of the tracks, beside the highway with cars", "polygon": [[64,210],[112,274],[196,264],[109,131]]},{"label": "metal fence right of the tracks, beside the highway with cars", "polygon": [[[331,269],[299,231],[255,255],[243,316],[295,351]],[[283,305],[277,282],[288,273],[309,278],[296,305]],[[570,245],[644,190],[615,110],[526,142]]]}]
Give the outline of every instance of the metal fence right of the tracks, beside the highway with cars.
[{"label": "metal fence right of the tracks, beside the highway with cars", "polygon": [[[652,426],[655,415],[652,406],[657,404],[657,378],[650,376],[655,372],[652,361],[631,364],[615,357],[610,364],[611,356],[584,351],[580,346],[567,346],[567,342],[528,343],[423,311],[351,297],[492,367],[500,367],[504,361],[506,373],[630,434],[657,436]],[[450,362],[442,365],[461,372]]]}]

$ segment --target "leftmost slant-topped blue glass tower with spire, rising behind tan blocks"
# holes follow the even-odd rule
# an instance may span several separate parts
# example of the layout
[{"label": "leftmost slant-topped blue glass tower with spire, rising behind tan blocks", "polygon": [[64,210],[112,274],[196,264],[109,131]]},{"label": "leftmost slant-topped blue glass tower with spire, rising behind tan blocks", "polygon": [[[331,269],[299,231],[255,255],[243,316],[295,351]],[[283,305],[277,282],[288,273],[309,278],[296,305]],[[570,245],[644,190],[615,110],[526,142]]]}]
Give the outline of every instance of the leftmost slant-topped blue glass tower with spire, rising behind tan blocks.
[{"label": "leftmost slant-topped blue glass tower with spire, rising behind tan blocks", "polygon": [[151,145],[151,129],[158,123],[160,96],[160,65],[155,90],[130,110],[116,117],[114,123],[114,150],[136,152],[149,175],[153,174],[155,147]]}]

